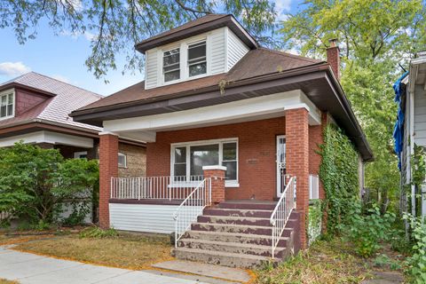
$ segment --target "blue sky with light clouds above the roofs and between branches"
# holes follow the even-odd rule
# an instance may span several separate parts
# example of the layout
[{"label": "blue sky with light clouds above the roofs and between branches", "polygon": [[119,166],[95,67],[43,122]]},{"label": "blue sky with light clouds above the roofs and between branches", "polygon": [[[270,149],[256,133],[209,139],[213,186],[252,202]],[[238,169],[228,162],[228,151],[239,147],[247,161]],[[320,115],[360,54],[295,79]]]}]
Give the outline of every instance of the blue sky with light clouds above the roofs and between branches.
[{"label": "blue sky with light clouds above the roofs and between branches", "polygon": [[[274,2],[280,12],[279,19],[297,9],[296,0]],[[84,65],[91,54],[90,41],[86,36],[55,36],[51,28],[43,23],[36,30],[36,39],[21,45],[11,28],[0,29],[3,42],[0,44],[0,83],[35,71],[107,96],[143,80],[143,74],[138,71],[135,75],[130,72],[122,75],[124,54],[116,55],[117,70],[109,70],[106,75],[109,83],[104,83],[103,79],[97,80]]]}]

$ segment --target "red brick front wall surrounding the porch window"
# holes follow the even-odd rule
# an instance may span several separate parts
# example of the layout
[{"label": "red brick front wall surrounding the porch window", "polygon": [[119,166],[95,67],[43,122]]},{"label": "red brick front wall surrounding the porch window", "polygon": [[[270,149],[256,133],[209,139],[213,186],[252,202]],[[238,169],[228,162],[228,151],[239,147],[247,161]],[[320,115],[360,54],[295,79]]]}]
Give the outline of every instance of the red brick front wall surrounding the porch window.
[{"label": "red brick front wall surrounding the porch window", "polygon": [[170,144],[218,138],[238,138],[240,187],[226,188],[226,200],[272,200],[276,197],[276,136],[284,135],[284,117],[191,130],[157,132],[146,144],[146,175],[170,175]]}]

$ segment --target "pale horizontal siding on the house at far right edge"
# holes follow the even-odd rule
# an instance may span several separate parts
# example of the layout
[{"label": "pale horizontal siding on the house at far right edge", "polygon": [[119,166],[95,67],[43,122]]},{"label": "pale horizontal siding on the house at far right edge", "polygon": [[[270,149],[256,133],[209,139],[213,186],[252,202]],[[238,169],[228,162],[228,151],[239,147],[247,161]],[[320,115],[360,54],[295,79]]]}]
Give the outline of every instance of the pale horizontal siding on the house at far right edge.
[{"label": "pale horizontal siding on the house at far right edge", "polygon": [[426,91],[420,85],[414,90],[414,143],[426,146]]}]

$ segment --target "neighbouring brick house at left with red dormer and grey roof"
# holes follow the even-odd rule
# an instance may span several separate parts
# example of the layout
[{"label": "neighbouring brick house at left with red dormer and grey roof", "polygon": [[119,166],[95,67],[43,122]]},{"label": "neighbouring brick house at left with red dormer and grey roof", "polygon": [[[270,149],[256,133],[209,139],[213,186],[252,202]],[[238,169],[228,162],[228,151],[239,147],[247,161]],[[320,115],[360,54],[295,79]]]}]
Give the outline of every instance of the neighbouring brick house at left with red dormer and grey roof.
[{"label": "neighbouring brick house at left with red dormer and grey roof", "polygon": [[[12,146],[23,140],[59,149],[67,159],[99,159],[102,128],[74,122],[68,114],[101,98],[96,93],[36,72],[2,83],[0,146]],[[145,173],[145,152],[145,143],[120,138],[120,176]]]}]

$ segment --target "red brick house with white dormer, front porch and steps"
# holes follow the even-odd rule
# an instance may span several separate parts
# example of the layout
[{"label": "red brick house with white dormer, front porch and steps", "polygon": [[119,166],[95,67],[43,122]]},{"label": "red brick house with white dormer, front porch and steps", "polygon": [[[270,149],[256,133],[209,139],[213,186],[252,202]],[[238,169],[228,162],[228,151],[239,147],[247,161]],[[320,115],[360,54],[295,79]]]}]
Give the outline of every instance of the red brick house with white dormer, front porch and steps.
[{"label": "red brick house with white dormer, front porch and steps", "polygon": [[[329,63],[272,51],[232,15],[211,14],[136,49],[145,80],[71,114],[104,127],[101,226],[175,232],[177,257],[230,266],[306,248],[309,200],[325,194],[327,123],[356,146],[362,187],[373,156],[338,81],[335,42]],[[146,142],[146,177],[116,177],[118,137]]]}]

